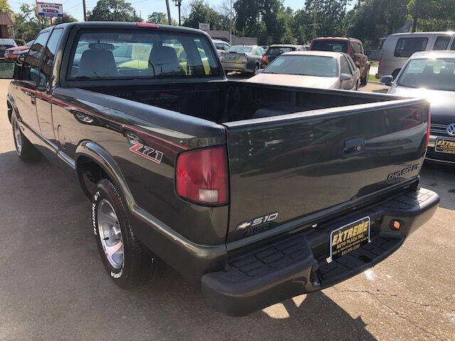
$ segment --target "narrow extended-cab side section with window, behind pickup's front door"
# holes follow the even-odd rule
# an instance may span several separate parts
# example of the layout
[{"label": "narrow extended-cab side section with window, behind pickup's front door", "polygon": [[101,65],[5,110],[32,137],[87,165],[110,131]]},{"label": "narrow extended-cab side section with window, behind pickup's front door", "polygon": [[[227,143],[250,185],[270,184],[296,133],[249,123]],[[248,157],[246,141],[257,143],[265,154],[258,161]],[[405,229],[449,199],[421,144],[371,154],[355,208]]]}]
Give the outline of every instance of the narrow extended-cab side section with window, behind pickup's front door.
[{"label": "narrow extended-cab side section with window, behind pickup's front door", "polygon": [[43,63],[41,64],[38,85],[36,87],[36,114],[41,135],[47,142],[47,147],[55,156],[57,143],[55,141],[55,132],[53,129],[52,117],[52,92],[55,88],[53,77],[53,65],[55,52],[58,48],[58,42],[62,36],[63,28],[53,30],[47,45],[43,50]]}]

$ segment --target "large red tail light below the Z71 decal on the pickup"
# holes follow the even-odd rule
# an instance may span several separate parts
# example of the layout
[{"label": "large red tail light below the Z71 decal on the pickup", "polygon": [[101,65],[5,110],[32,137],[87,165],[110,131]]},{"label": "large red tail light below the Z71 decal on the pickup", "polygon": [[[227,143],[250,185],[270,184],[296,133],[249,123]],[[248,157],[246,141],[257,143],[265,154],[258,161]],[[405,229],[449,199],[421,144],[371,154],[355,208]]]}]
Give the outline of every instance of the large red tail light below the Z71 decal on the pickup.
[{"label": "large red tail light below the Z71 decal on the pickup", "polygon": [[199,205],[228,203],[228,160],[225,147],[186,151],[177,158],[176,193]]}]

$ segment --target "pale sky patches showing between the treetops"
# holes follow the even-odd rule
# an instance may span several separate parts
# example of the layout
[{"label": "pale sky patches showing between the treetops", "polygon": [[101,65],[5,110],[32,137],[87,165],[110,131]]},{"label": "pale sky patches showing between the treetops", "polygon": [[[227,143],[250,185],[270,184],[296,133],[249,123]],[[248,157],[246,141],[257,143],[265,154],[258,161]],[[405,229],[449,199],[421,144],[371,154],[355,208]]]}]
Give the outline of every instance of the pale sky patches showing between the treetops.
[{"label": "pale sky patches showing between the treetops", "polygon": [[[82,0],[55,0],[55,1],[46,1],[41,0],[43,2],[55,2],[59,4],[63,4],[63,11],[70,13],[75,18],[82,20],[84,14],[82,12]],[[235,0],[232,0],[232,2]],[[36,1],[34,0],[9,0],[9,4],[11,9],[15,12],[20,10],[20,6],[23,3],[26,4],[35,4]],[[136,9],[137,13],[141,14],[141,17],[144,20],[151,14],[152,12],[164,12],[166,13],[166,1],[165,0],[130,0],[127,1],[134,9]],[[185,13],[186,8],[191,0],[182,0],[182,10]],[[221,4],[223,4],[224,0],[208,0],[208,3],[213,6],[215,9],[218,9]],[[291,9],[301,9],[304,6],[304,0],[285,0],[284,6],[289,6]],[[95,5],[97,4],[97,0],[85,0],[85,5],[87,6],[87,11],[90,11]],[[169,5],[171,7],[171,17],[178,18],[178,9],[175,6],[175,2],[173,0],[169,0]]]}]

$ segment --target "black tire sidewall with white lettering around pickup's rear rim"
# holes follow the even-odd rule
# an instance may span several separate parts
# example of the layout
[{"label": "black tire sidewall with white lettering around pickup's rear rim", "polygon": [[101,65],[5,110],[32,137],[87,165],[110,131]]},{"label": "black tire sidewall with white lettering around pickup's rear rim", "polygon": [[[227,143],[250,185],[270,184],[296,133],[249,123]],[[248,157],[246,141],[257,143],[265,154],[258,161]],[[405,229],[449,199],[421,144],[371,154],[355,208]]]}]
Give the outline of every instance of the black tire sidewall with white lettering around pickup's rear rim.
[{"label": "black tire sidewall with white lettering around pickup's rear rim", "polygon": [[[124,261],[123,266],[120,269],[115,269],[111,264],[109,264],[105,251],[102,248],[101,244],[100,232],[98,231],[97,212],[100,202],[103,199],[106,199],[114,208],[115,214],[117,215],[117,219],[119,221],[120,230],[122,232]],[[124,209],[124,205],[121,200],[122,199],[120,198],[117,190],[114,188],[114,185],[109,182],[109,180],[101,180],[99,183],[97,183],[95,193],[92,196],[92,230],[93,234],[95,235],[98,251],[100,251],[102,263],[105,266],[107,273],[119,286],[124,287],[127,286],[131,266],[131,260],[129,259],[129,234],[131,233],[131,230],[129,228],[127,212]]]}]

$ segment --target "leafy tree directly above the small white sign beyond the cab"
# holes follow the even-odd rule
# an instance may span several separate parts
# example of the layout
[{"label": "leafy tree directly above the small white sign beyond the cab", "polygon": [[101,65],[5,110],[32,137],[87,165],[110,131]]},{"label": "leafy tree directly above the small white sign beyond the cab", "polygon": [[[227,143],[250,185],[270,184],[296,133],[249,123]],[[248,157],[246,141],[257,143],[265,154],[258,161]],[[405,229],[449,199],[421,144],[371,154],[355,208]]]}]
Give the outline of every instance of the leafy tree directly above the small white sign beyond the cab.
[{"label": "leafy tree directly above the small white sign beyond the cab", "polygon": [[204,0],[194,0],[189,6],[189,14],[183,18],[183,26],[198,28],[199,23],[210,23],[210,30],[228,30],[229,18],[210,7]]}]

